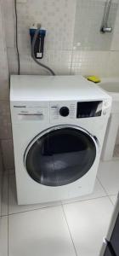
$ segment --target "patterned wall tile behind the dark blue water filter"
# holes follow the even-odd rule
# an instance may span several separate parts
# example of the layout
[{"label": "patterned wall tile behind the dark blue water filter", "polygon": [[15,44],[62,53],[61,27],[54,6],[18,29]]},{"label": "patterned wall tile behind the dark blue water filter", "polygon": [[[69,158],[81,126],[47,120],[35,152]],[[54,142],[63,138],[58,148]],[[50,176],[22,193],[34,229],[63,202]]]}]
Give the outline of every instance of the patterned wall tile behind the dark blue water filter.
[{"label": "patterned wall tile behind the dark blue water filter", "polygon": [[27,40],[29,27],[37,22],[47,30],[46,49],[72,48],[76,0],[29,0],[24,4],[18,3],[17,9],[18,32],[22,37],[24,35],[24,38],[20,37],[21,40]]}]

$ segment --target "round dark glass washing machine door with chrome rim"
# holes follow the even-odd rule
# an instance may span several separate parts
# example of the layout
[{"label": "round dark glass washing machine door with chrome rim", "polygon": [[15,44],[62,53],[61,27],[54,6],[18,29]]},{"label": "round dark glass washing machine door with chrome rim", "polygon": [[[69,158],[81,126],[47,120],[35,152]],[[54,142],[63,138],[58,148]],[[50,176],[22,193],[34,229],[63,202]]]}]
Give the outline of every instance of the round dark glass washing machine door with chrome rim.
[{"label": "round dark glass washing machine door with chrome rim", "polygon": [[37,183],[61,186],[75,182],[94,164],[97,142],[75,125],[58,125],[40,133],[26,148],[26,171]]}]

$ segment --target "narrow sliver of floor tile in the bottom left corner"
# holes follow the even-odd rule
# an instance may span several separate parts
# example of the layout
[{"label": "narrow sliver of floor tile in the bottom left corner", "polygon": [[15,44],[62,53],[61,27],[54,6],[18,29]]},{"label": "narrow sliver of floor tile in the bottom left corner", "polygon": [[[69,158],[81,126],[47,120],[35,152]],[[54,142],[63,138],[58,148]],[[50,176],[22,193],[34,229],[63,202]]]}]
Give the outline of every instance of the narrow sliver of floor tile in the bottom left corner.
[{"label": "narrow sliver of floor tile in the bottom left corner", "polygon": [[0,256],[8,256],[8,217],[0,218]]}]

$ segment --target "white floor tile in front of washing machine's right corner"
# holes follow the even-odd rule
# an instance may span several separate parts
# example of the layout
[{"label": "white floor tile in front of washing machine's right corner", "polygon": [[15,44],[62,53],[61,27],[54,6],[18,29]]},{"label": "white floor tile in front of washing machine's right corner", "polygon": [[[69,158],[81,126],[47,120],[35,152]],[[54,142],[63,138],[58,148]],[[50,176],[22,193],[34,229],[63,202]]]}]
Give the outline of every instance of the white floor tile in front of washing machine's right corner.
[{"label": "white floor tile in front of washing machine's right corner", "polygon": [[99,256],[113,206],[108,197],[64,206],[78,256]]}]

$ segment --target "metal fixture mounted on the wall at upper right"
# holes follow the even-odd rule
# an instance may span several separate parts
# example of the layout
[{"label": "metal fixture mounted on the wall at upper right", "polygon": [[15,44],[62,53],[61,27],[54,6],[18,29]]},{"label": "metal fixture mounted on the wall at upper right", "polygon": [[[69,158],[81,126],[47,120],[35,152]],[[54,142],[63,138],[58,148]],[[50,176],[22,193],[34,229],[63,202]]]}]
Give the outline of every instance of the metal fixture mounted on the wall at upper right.
[{"label": "metal fixture mounted on the wall at upper right", "polygon": [[105,3],[105,13],[104,13],[104,18],[103,18],[103,23],[101,26],[101,32],[112,32],[112,27],[108,26],[108,18],[110,14],[110,9],[111,9],[111,2],[112,0],[107,0]]}]

